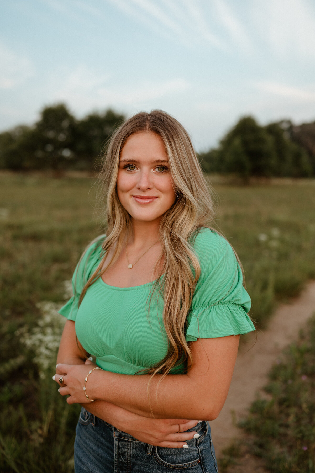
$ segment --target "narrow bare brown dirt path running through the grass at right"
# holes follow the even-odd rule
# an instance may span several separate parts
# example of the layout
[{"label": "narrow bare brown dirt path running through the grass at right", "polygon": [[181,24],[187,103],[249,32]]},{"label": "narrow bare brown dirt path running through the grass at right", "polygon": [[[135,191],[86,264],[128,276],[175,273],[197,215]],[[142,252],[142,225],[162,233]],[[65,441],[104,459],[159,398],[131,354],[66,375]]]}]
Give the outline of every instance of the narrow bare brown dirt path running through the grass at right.
[{"label": "narrow bare brown dirt path running through the grass at right", "polygon": [[[255,393],[267,382],[267,373],[283,348],[296,340],[298,331],[315,312],[315,281],[308,282],[305,290],[289,304],[281,304],[264,332],[257,333],[253,341],[242,348],[236,360],[231,387],[226,403],[218,419],[210,422],[211,435],[219,458],[222,448],[232,438],[242,436],[242,430],[235,427],[232,417],[239,420],[255,399]],[[246,351],[248,350],[248,351]],[[232,412],[235,412],[232,416]],[[245,472],[245,469],[243,470]],[[250,471],[250,470],[249,470]],[[258,470],[251,470],[258,471]]]}]

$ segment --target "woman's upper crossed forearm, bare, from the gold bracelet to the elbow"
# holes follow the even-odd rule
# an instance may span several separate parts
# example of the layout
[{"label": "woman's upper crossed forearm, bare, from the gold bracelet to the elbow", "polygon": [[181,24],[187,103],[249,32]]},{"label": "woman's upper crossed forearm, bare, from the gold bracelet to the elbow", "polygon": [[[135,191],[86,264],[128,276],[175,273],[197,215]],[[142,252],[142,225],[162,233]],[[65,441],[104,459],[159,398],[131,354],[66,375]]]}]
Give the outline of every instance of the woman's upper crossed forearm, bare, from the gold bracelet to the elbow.
[{"label": "woman's upper crossed forearm, bare, from the gold bracelet to the elbow", "polygon": [[[216,394],[209,393],[209,385],[189,375],[120,375],[98,372],[90,385],[93,395],[135,414],[159,419],[207,419],[218,415]],[[92,380],[91,380],[92,381]],[[220,409],[220,408],[219,408]]]}]

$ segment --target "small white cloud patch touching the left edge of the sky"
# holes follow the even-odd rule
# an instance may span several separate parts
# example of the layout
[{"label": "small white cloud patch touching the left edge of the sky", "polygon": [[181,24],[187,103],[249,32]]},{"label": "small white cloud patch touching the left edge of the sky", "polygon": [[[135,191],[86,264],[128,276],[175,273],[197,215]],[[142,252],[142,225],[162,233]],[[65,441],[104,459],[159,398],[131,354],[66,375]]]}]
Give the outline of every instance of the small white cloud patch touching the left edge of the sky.
[{"label": "small white cloud patch touching the left edge of the sky", "polygon": [[23,84],[34,74],[32,62],[0,44],[0,88],[11,89]]}]

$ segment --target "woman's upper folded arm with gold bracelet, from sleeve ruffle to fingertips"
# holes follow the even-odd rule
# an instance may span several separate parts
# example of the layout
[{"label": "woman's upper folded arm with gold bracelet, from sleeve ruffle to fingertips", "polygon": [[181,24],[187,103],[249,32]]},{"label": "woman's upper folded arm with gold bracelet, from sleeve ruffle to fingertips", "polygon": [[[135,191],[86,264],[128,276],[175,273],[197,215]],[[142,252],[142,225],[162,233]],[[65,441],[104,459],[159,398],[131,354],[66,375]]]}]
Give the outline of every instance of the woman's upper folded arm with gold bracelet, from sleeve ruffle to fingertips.
[{"label": "woman's upper folded arm with gold bracelet, from sleeve ruffle to fingertips", "polygon": [[[87,393],[91,399],[101,399],[145,417],[213,420],[228,395],[238,343],[238,335],[191,342],[193,367],[187,374],[163,379],[160,375],[151,378],[96,370],[88,378]],[[70,394],[68,403],[82,402],[87,367],[58,368],[66,374],[67,385],[60,393]]]}]

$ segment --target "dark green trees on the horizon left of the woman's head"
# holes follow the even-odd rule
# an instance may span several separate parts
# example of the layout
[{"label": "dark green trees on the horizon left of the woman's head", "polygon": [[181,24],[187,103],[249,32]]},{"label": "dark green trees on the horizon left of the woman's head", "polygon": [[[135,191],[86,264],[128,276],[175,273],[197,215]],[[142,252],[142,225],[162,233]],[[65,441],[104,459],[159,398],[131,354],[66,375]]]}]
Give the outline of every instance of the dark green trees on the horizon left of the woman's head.
[{"label": "dark green trees on the horizon left of the woman's head", "polygon": [[44,107],[33,126],[21,125],[0,133],[0,168],[92,171],[124,118],[109,109],[78,120],[64,104]]}]

